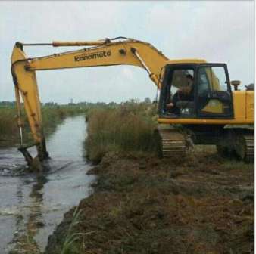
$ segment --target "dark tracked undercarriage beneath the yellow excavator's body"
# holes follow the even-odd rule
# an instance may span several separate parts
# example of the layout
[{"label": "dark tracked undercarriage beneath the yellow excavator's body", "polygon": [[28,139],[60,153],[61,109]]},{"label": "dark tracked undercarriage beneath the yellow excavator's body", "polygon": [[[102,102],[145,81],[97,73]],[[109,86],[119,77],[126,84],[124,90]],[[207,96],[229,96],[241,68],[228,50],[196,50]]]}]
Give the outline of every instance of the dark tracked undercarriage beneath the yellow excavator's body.
[{"label": "dark tracked undercarriage beneath the yellow excavator's body", "polygon": [[159,126],[155,130],[158,155],[162,158],[186,156],[195,144],[216,145],[217,152],[225,157],[237,157],[245,162],[254,161],[254,130],[251,126],[243,128],[223,128],[214,130],[193,128],[195,126],[178,127]]}]

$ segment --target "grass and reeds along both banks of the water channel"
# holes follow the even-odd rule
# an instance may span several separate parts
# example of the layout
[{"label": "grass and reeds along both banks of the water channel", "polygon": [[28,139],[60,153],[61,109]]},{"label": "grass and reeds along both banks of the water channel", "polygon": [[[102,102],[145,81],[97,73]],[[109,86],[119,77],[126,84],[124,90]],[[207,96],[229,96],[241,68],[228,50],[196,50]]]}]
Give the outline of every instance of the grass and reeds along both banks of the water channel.
[{"label": "grass and reeds along both banks of the water channel", "polygon": [[[144,103],[131,100],[121,105],[114,102],[108,104],[80,102],[67,105],[48,102],[42,104],[41,107],[45,135],[54,132],[57,125],[67,116],[75,116],[80,113],[86,113],[87,118],[92,116],[89,121],[89,137],[93,136],[89,138],[89,143],[92,144],[89,151],[92,160],[100,160],[106,149],[151,150],[151,131],[155,127],[153,120],[155,109],[151,106],[149,98],[145,98]],[[22,116],[24,120],[24,140],[26,143],[30,143],[32,141],[30,125],[24,110]],[[1,147],[19,143],[16,118],[15,102],[0,101]],[[120,125],[118,121],[121,121],[122,124]]]}]

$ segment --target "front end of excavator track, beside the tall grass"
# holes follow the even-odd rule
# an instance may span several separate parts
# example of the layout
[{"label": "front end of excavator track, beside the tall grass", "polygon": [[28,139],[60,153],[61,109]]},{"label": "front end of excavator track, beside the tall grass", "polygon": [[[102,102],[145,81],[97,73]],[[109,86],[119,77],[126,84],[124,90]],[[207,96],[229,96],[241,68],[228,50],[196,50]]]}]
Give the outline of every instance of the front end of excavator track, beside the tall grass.
[{"label": "front end of excavator track, beside the tall grass", "polygon": [[159,156],[168,158],[172,156],[184,156],[187,145],[185,136],[176,129],[158,129],[158,153]]}]

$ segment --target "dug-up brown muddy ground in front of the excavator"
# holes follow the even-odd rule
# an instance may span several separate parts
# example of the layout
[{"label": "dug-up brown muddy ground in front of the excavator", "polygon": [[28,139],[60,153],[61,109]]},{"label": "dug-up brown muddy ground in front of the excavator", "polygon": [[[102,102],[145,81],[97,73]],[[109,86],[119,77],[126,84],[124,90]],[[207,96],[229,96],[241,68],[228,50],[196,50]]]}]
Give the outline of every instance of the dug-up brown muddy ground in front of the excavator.
[{"label": "dug-up brown muddy ground in front of the excavator", "polygon": [[64,215],[53,253],[253,253],[254,166],[214,148],[186,158],[110,153],[94,194]]}]

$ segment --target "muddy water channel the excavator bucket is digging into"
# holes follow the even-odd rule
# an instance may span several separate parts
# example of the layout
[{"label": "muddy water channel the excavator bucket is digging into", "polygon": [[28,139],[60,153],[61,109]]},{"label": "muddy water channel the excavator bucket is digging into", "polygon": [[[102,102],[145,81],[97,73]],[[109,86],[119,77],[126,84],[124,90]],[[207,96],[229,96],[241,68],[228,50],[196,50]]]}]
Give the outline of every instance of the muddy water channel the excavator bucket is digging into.
[{"label": "muddy water channel the excavator bucket is digging into", "polygon": [[42,252],[64,212],[89,195],[85,135],[84,116],[66,119],[48,138],[52,159],[37,175],[23,172],[16,148],[0,150],[0,254]]}]

